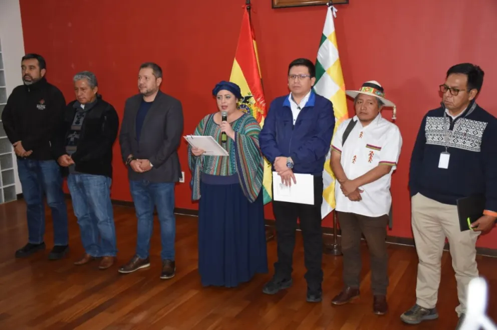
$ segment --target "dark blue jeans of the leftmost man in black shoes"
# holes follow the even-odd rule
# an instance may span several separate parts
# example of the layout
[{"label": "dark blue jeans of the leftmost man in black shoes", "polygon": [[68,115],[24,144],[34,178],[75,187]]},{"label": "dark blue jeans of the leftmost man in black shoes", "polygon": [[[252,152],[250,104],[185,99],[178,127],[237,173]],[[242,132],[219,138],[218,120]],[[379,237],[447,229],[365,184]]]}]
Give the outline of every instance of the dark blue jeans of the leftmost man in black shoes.
[{"label": "dark blue jeans of the leftmost man in black shoes", "polygon": [[23,197],[28,209],[28,242],[40,244],[45,236],[43,193],[52,210],[54,245],[68,245],[67,208],[62,191],[62,175],[55,160],[17,160]]}]

